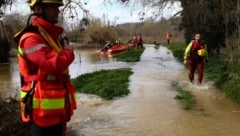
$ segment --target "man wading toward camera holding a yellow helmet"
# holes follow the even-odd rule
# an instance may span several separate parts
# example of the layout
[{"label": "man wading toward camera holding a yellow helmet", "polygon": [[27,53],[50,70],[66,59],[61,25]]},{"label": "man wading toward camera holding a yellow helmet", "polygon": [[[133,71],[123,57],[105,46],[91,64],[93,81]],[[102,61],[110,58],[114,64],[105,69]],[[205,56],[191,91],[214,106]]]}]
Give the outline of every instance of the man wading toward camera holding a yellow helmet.
[{"label": "man wading toward camera holding a yellow helmet", "polygon": [[200,34],[195,34],[194,40],[192,40],[184,52],[184,64],[189,63],[189,80],[193,82],[195,69],[198,70],[198,85],[202,84],[204,61],[208,62],[207,46],[203,40],[201,40]]}]

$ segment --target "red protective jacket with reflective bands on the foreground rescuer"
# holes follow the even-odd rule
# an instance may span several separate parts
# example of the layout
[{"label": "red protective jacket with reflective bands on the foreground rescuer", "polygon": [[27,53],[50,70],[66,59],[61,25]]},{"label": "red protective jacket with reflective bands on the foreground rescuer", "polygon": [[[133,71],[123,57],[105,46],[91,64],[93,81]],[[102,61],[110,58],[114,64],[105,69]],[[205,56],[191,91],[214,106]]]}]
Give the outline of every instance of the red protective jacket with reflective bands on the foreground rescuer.
[{"label": "red protective jacket with reflective bands on the foreground rescuer", "polygon": [[32,24],[41,27],[61,49],[56,51],[51,42],[38,31],[23,33],[18,41],[20,74],[23,79],[21,98],[36,82],[31,118],[41,127],[56,125],[69,120],[76,109],[75,88],[70,82],[67,69],[74,60],[73,51],[62,48],[59,37],[63,32],[41,18],[34,17]]}]

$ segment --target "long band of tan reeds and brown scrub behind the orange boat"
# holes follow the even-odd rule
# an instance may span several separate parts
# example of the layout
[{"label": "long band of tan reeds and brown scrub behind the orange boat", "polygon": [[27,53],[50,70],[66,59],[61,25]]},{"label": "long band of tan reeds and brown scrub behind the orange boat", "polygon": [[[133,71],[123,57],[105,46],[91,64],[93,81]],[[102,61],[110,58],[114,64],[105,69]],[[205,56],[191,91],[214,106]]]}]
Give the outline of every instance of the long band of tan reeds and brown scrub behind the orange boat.
[{"label": "long band of tan reeds and brown scrub behind the orange boat", "polygon": [[[100,20],[93,20],[86,31],[81,31],[80,27],[68,32],[72,42],[105,44],[106,40],[115,41],[115,37],[121,42],[128,43],[134,34],[141,34],[144,43],[166,44],[165,35],[170,32],[173,37],[172,43],[183,43],[183,32],[178,30],[181,18],[171,18],[157,22],[126,23],[126,24],[104,24]],[[89,45],[91,46],[91,45]]]}]

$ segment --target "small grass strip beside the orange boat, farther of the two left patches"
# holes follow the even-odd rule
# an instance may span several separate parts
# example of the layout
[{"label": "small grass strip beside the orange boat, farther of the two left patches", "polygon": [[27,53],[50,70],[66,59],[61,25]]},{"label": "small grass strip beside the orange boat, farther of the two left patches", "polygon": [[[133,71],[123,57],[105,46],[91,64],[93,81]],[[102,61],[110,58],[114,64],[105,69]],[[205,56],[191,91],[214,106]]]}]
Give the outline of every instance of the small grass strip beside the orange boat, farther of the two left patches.
[{"label": "small grass strip beside the orange boat, farther of the two left patches", "polygon": [[117,61],[138,62],[144,51],[144,48],[129,48],[129,50],[116,54]]}]

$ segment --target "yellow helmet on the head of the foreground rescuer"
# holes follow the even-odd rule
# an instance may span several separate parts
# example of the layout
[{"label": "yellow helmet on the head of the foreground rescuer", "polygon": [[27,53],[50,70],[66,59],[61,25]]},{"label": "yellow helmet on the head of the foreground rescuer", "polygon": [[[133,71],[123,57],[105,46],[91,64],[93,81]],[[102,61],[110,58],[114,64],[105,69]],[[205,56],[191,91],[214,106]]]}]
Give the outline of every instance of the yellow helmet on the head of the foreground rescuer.
[{"label": "yellow helmet on the head of the foreground rescuer", "polygon": [[63,0],[27,0],[27,3],[31,9],[37,4],[57,4],[63,6]]}]

